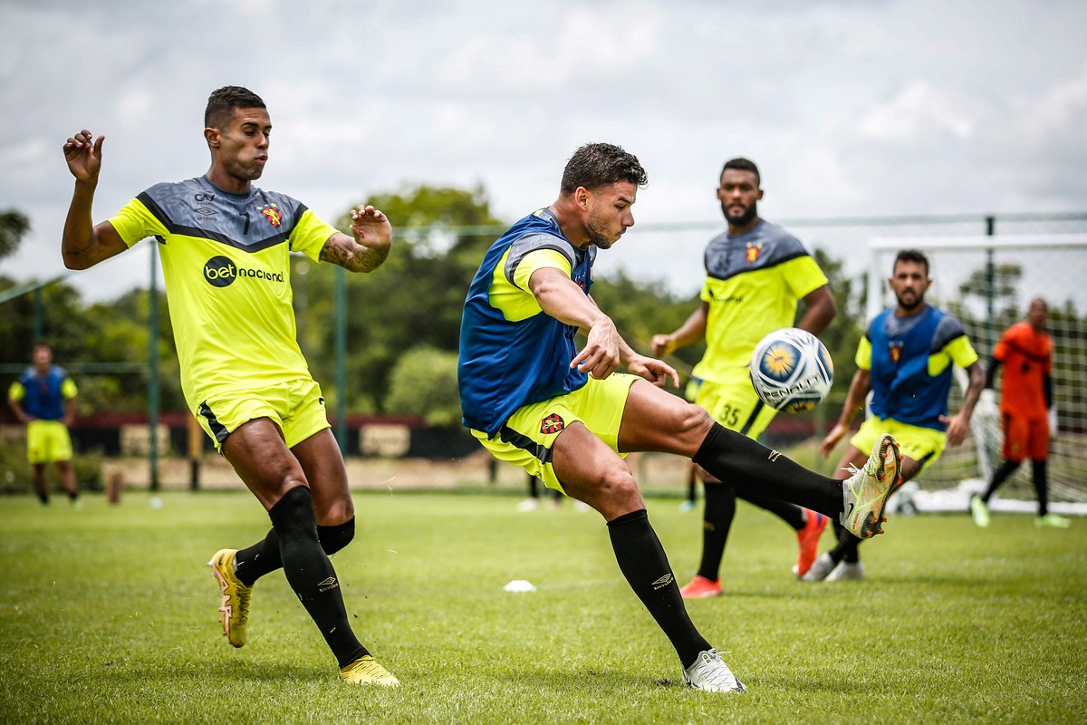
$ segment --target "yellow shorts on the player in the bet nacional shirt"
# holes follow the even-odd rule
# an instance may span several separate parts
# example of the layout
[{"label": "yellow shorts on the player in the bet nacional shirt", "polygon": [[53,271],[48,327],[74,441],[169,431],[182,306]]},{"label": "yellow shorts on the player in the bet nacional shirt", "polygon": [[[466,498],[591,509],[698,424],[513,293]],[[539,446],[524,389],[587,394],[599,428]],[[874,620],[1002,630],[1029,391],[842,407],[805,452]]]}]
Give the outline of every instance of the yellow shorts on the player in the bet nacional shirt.
[{"label": "yellow shorts on the player in the bet nacional shirt", "polygon": [[271,420],[293,448],[315,433],[330,427],[321,386],[312,378],[287,380],[260,390],[214,393],[195,411],[200,427],[222,452],[223,441],[238,426],[259,417]]}]

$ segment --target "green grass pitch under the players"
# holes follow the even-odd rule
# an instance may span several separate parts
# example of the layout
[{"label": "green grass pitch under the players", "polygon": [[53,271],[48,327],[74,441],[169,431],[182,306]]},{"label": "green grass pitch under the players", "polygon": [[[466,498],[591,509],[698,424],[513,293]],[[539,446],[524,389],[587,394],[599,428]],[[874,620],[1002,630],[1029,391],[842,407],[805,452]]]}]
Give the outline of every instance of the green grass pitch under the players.
[{"label": "green grass pitch under the players", "polygon": [[[360,639],[402,682],[386,690],[336,682],[278,573],[254,590],[249,645],[218,634],[203,564],[268,528],[247,493],[86,499],[0,498],[4,722],[1087,722],[1083,520],[900,516],[862,548],[865,582],[807,585],[792,534],[741,504],[726,595],[688,607],[749,688],[722,696],[682,686],[597,514],[358,495],[360,535],[334,563]],[[649,510],[686,580],[700,514]]]}]

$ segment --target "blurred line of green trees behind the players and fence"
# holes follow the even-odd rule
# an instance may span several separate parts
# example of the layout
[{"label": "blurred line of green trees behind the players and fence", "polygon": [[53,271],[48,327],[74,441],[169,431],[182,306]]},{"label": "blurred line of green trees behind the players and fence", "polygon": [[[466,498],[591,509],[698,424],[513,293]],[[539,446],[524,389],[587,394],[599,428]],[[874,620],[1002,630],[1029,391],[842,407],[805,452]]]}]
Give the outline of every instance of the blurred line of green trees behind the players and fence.
[{"label": "blurred line of green trees behind the players and fence", "polygon": [[[347,276],[347,389],[335,387],[337,270],[301,255],[292,258],[291,265],[299,343],[326,397],[337,400],[338,395],[345,395],[350,413],[412,414],[433,425],[455,425],[460,420],[457,351],[464,296],[484,252],[507,222],[491,213],[482,188],[421,185],[374,195],[364,203],[374,204],[392,220],[396,240],[379,270]],[[347,229],[346,211],[336,224]],[[28,228],[20,212],[0,213],[0,259],[15,251]],[[863,333],[865,283],[863,277],[846,276],[842,262],[822,250],[814,249],[813,254],[829,278],[838,304],[838,315],[822,339],[835,362],[834,390],[844,397],[855,371],[858,336]],[[700,261],[692,261],[692,267],[696,263]],[[1013,299],[1016,271],[1004,272],[1003,278],[1011,282],[999,291],[1007,308]],[[15,286],[14,279],[0,275],[0,293]],[[697,293],[675,296],[662,283],[639,282],[622,273],[598,278],[592,293],[630,345],[646,353],[653,334],[675,329],[700,303]],[[111,302],[86,303],[66,282],[43,288],[41,329],[53,346],[58,364],[145,363],[150,343],[149,295],[147,289],[133,289]],[[165,293],[159,295],[160,309],[166,310]],[[0,363],[28,363],[36,304],[34,295],[23,295],[0,307]],[[965,308],[954,312],[969,314]],[[1021,315],[1020,310],[1002,312],[1003,317],[1013,320]],[[159,316],[155,338],[160,409],[185,410],[167,314]],[[702,351],[701,345],[692,345],[677,351],[670,362],[680,373],[689,372]],[[12,377],[0,379],[4,390]],[[143,375],[87,374],[77,376],[77,384],[80,415],[147,410]]]}]

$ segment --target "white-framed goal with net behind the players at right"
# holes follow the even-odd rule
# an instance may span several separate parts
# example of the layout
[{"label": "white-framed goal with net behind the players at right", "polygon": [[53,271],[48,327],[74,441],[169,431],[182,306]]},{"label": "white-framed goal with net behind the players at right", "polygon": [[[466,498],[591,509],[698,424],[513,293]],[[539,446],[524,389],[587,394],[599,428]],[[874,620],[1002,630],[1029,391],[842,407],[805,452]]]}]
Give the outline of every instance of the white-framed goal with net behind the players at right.
[{"label": "white-framed goal with net behind the players at right", "polygon": [[[1025,318],[1029,301],[1046,299],[1058,411],[1058,435],[1048,466],[1050,510],[1087,514],[1087,235],[877,237],[869,247],[867,318],[894,303],[886,279],[895,254],[919,249],[930,263],[933,286],[926,300],[962,322],[985,366],[1001,333]],[[949,403],[952,412],[962,403],[966,376],[957,371],[957,379]],[[998,400],[1001,379],[998,373]],[[904,501],[899,505],[965,511],[970,496],[987,486],[999,464],[1001,446],[999,416],[987,418],[975,411],[970,438],[946,449],[916,479],[916,486],[904,487],[900,497]],[[1024,462],[1000,487],[990,508],[1034,512],[1036,507],[1030,465]]]}]

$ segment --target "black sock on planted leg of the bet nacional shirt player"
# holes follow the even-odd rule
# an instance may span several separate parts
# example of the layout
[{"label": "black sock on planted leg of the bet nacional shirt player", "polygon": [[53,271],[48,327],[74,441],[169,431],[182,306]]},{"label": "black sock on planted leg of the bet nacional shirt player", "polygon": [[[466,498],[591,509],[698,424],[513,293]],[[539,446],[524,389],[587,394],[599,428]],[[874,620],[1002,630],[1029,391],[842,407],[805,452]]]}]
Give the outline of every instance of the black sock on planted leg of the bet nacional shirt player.
[{"label": "black sock on planted leg of the bet nacional shirt player", "polygon": [[321,548],[310,489],[292,488],[268,511],[279,539],[283,572],[343,667],[368,654],[351,630],[343,595],[328,554]]}]

